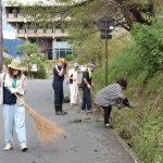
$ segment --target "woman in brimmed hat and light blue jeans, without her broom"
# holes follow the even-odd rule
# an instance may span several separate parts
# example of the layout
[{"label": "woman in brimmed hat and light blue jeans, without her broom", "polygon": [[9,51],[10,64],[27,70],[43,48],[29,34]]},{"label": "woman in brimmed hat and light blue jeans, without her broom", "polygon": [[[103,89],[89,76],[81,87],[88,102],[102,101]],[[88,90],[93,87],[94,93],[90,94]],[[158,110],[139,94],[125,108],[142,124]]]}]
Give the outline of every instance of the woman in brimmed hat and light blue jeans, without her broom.
[{"label": "woman in brimmed hat and light blue jeans, without her broom", "polygon": [[25,93],[26,77],[23,75],[24,70],[20,60],[12,60],[8,65],[8,72],[0,74],[1,100],[3,122],[4,122],[4,151],[12,149],[13,129],[15,127],[20,147],[26,151],[26,128],[25,128],[25,108],[16,98],[15,93],[22,98]]}]

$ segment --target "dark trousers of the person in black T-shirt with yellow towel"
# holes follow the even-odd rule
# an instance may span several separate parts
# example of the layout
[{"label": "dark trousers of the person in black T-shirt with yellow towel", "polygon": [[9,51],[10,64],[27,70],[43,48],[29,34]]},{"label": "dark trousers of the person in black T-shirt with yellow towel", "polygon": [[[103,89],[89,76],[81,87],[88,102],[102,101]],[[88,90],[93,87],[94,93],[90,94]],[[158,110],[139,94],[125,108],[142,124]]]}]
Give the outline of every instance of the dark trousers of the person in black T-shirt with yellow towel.
[{"label": "dark trousers of the person in black T-shirt with yellow towel", "polygon": [[88,110],[91,108],[91,100],[90,100],[90,89],[87,86],[83,87],[83,103],[82,110],[85,110],[87,106]]}]

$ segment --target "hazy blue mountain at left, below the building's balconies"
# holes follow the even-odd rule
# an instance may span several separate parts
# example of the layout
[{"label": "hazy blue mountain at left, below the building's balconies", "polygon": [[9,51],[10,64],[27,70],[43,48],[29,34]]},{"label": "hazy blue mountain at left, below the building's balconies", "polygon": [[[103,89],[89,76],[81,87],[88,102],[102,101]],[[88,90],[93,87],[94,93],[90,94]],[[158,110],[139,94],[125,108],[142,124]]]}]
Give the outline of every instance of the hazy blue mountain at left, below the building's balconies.
[{"label": "hazy blue mountain at left, below the building's balconies", "polygon": [[21,39],[3,39],[3,47],[8,49],[8,53],[12,57],[16,57],[16,53],[18,52],[17,46],[23,43],[24,41]]}]

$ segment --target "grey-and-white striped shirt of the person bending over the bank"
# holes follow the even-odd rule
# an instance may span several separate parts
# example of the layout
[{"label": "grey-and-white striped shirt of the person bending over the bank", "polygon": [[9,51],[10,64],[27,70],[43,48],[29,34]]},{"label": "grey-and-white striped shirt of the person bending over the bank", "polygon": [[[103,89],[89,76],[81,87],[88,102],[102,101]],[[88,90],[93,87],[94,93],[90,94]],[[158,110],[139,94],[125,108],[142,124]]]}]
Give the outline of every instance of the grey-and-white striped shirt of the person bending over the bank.
[{"label": "grey-and-white striped shirt of the person bending over the bank", "polygon": [[114,105],[123,97],[120,84],[112,84],[102,88],[96,96],[96,103],[102,106]]}]

